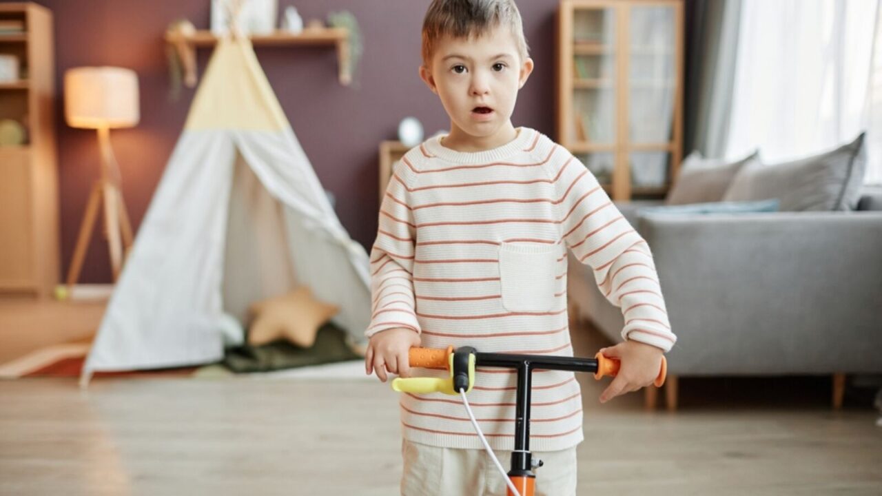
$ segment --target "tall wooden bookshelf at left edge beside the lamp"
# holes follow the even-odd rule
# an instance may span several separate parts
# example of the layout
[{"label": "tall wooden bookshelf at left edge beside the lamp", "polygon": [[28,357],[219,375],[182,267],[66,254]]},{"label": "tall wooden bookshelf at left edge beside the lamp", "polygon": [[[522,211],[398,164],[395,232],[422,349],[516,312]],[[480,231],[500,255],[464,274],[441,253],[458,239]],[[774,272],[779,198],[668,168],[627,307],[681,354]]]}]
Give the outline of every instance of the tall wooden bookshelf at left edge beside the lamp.
[{"label": "tall wooden bookshelf at left edge beside the lamp", "polygon": [[0,4],[0,53],[19,58],[21,79],[0,83],[0,119],[23,125],[26,142],[0,146],[0,296],[48,300],[60,277],[55,67],[52,13],[33,3]]}]

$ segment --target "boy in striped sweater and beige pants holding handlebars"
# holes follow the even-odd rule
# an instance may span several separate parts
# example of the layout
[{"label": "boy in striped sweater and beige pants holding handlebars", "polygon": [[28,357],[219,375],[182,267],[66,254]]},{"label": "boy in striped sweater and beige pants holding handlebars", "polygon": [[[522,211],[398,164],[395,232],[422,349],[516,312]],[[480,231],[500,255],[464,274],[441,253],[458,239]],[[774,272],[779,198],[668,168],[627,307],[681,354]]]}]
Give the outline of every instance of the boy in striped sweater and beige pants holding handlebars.
[{"label": "boy in striped sweater and beige pants holding handlebars", "polygon": [[[594,176],[512,110],[533,61],[513,0],[434,0],[422,28],[420,76],[451,131],[394,168],[370,256],[373,316],[366,372],[410,375],[413,346],[572,356],[566,250],[594,268],[621,306],[622,360],[601,402],[649,385],[676,338],[646,242]],[[421,375],[445,375],[421,371]],[[490,446],[513,447],[515,374],[479,369],[469,402]],[[582,437],[572,372],[534,373],[531,447],[546,467],[537,494],[576,491]],[[462,403],[402,395],[404,495],[505,494]],[[502,460],[506,467],[507,461]]]}]

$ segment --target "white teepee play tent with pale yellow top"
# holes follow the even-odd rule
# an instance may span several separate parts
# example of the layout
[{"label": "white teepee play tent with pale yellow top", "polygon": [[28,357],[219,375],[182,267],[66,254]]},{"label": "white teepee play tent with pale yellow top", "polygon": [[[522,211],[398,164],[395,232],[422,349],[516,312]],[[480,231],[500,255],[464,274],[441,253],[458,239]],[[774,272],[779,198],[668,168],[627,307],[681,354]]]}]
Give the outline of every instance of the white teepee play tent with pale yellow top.
[{"label": "white teepee play tent with pale yellow top", "polygon": [[[370,320],[368,257],[340,225],[250,41],[222,39],[83,369],[205,364],[227,314],[307,285],[353,340]],[[241,320],[240,320],[241,321]],[[241,336],[240,336],[241,337]]]}]

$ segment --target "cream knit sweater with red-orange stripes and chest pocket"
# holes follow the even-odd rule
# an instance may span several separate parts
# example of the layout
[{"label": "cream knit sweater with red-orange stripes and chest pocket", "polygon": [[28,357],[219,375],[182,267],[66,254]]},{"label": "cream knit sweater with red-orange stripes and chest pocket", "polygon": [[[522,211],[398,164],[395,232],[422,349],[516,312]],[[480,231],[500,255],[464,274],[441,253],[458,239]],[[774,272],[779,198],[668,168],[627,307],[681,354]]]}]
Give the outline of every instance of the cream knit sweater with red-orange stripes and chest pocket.
[{"label": "cream knit sweater with red-orange stripes and chest pocket", "polygon": [[[431,348],[572,357],[567,248],[622,308],[625,339],[671,348],[676,338],[652,254],[579,160],[527,128],[477,153],[429,139],[395,164],[380,207],[366,334],[408,327]],[[582,402],[573,373],[533,376],[531,448],[577,445]],[[515,378],[479,367],[469,393],[494,449],[513,448]],[[402,395],[400,412],[407,440],[481,447],[456,396]]]}]

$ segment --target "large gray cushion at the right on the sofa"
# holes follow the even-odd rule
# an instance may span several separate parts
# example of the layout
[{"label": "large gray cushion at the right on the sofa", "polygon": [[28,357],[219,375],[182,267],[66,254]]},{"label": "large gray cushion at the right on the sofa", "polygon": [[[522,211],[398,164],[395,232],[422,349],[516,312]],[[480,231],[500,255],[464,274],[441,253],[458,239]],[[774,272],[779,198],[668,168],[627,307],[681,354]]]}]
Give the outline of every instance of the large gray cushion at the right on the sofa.
[{"label": "large gray cushion at the right on the sofa", "polygon": [[723,201],[780,199],[781,210],[854,210],[866,168],[863,132],[835,150],[774,165],[751,163],[736,174]]}]

